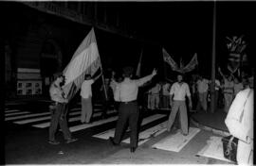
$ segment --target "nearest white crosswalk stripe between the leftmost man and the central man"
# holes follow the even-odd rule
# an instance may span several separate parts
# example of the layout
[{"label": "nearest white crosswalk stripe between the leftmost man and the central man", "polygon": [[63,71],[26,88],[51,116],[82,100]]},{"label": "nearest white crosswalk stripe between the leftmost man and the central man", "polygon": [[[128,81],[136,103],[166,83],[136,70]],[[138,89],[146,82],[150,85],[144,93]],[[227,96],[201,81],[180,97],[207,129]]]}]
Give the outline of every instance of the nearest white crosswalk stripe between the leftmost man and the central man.
[{"label": "nearest white crosswalk stripe between the leftmost man and the central man", "polygon": [[114,116],[114,117],[111,117],[109,119],[93,122],[92,124],[82,124],[82,125],[71,126],[71,127],[69,127],[69,129],[70,129],[71,132],[75,132],[75,131],[79,131],[79,130],[82,130],[82,129],[85,129],[85,128],[114,122],[114,121],[117,121],[117,119],[118,119],[118,116]]}]

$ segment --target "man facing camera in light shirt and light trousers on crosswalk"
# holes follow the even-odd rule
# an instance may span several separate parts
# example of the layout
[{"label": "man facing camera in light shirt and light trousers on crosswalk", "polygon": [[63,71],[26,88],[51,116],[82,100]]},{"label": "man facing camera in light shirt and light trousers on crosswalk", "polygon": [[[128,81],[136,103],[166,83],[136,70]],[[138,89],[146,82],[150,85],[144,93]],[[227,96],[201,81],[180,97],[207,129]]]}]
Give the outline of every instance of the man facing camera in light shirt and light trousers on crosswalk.
[{"label": "man facing camera in light shirt and light trousers on crosswalk", "polygon": [[187,95],[190,103],[189,107],[192,108],[192,98],[189,85],[183,82],[183,76],[177,75],[177,82],[175,82],[170,91],[171,95],[171,107],[172,111],[169,116],[167,123],[167,131],[171,131],[172,125],[174,124],[176,113],[179,112],[179,122],[181,126],[181,133],[184,136],[189,134],[188,115],[185,102],[185,96]]}]

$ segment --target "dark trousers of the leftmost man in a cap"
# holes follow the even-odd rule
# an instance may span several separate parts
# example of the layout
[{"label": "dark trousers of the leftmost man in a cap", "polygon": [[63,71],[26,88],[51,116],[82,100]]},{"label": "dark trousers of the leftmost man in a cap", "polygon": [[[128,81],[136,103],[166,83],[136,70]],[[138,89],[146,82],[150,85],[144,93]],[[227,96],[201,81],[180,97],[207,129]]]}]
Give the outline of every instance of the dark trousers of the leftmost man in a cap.
[{"label": "dark trousers of the leftmost man in a cap", "polygon": [[71,133],[69,131],[69,128],[66,122],[65,111],[66,111],[66,104],[62,104],[62,103],[58,103],[56,105],[56,108],[52,110],[50,126],[49,126],[49,141],[55,140],[55,133],[56,133],[58,124],[60,124],[61,129],[64,133],[64,139],[67,140],[71,138]]}]

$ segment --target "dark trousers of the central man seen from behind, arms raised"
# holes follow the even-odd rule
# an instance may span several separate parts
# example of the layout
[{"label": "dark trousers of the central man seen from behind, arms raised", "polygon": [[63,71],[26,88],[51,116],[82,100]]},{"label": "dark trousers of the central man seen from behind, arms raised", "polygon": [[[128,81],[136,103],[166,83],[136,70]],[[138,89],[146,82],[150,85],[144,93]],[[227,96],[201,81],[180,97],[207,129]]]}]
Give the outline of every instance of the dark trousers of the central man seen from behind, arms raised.
[{"label": "dark trousers of the central man seen from behind, arms raised", "polygon": [[130,132],[130,145],[137,147],[137,120],[138,120],[138,107],[137,102],[119,104],[119,120],[115,131],[114,141],[119,143],[122,139],[126,123],[129,123]]}]

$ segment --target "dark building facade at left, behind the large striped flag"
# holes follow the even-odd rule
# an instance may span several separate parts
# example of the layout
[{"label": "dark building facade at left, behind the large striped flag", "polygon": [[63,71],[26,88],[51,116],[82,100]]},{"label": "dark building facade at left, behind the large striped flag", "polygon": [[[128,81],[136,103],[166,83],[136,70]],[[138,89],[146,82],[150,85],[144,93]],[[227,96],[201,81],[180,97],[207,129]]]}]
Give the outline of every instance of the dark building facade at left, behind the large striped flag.
[{"label": "dark building facade at left, behind the large striped flag", "polygon": [[132,26],[127,28],[123,4],[6,2],[1,8],[7,27],[6,98],[47,96],[54,74],[64,70],[92,26],[127,40],[136,36]]}]

